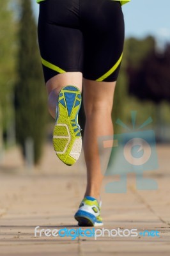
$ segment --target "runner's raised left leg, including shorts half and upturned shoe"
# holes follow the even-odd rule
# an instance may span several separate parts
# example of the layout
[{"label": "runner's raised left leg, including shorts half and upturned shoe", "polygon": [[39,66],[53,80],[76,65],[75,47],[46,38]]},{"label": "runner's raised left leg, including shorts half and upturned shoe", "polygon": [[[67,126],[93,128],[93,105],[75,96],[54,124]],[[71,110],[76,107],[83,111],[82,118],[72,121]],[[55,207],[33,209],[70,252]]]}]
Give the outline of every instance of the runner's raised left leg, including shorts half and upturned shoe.
[{"label": "runner's raised left leg, including shorts half and upturned shoe", "polygon": [[[83,36],[79,1],[40,2],[38,42],[47,86],[48,107],[56,118],[53,145],[63,163],[72,165],[81,154],[77,115],[81,106]],[[73,9],[75,12],[72,12]]]}]

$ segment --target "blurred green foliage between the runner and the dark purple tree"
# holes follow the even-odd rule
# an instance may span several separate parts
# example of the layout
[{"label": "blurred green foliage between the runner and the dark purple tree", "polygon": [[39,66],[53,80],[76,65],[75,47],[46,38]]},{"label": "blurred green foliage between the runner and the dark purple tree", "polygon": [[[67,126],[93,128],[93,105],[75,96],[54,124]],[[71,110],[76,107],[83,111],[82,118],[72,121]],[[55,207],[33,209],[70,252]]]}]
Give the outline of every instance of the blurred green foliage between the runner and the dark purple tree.
[{"label": "blurred green foliage between the runner and the dark purple tree", "polygon": [[155,40],[151,36],[148,36],[143,40],[129,38],[125,41],[123,61],[121,63],[120,76],[116,83],[114,106],[112,111],[115,134],[126,132],[119,125],[115,124],[117,118],[120,118],[128,126],[132,124],[130,111],[137,111],[137,122],[139,125],[142,124],[148,116],[153,116],[153,114],[155,114],[155,106],[151,101],[143,104],[134,96],[132,97],[128,90],[128,69],[140,69],[144,58],[153,51],[154,45]]}]

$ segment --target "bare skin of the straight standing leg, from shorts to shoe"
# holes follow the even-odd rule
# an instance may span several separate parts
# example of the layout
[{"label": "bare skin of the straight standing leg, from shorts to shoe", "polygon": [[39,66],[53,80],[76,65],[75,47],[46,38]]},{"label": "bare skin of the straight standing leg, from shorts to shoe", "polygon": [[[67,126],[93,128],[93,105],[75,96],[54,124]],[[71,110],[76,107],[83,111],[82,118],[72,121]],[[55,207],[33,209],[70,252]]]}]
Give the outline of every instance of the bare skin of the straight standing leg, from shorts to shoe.
[{"label": "bare skin of the straight standing leg, from shorts to shoe", "polygon": [[[85,196],[100,197],[103,173],[100,167],[98,138],[113,135],[112,104],[116,82],[97,82],[84,79],[84,157],[87,167]],[[104,152],[103,152],[104,153]],[[102,157],[105,157],[103,154]],[[109,157],[109,156],[106,156]]]}]

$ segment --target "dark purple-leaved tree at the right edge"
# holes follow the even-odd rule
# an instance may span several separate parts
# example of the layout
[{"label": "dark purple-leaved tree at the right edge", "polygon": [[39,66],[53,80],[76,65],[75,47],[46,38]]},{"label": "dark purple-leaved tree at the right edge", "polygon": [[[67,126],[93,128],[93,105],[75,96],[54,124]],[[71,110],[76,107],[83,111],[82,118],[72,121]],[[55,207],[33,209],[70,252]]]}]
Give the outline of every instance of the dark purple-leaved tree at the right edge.
[{"label": "dark purple-leaved tree at the right edge", "polygon": [[[130,71],[130,93],[141,100],[152,100],[156,104],[162,100],[170,102],[170,45],[165,52],[150,51],[138,69]],[[137,84],[137,86],[136,86]]]}]

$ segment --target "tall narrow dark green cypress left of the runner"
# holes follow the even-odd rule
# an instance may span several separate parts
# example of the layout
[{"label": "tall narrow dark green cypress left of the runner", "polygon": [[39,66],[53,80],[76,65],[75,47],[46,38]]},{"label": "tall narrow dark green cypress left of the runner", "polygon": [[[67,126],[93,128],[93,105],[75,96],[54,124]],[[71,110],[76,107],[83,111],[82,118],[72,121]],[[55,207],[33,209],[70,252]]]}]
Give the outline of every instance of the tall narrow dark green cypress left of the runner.
[{"label": "tall narrow dark green cypress left of the runner", "polygon": [[40,160],[45,138],[46,96],[31,1],[21,0],[20,3],[18,80],[15,87],[16,131],[24,156],[26,140],[32,138],[36,164]]}]

